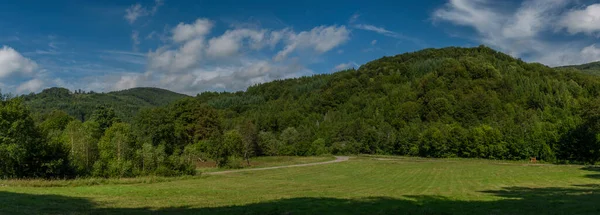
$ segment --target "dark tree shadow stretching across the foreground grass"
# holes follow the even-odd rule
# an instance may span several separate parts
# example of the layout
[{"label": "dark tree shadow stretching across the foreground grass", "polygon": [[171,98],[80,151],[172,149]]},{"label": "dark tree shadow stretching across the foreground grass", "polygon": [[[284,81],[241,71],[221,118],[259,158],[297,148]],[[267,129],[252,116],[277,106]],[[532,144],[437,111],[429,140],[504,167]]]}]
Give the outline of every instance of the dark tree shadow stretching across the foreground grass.
[{"label": "dark tree shadow stretching across the foreground grass", "polygon": [[[443,196],[289,198],[214,208],[102,208],[84,198],[0,192],[0,214],[600,214],[600,186],[507,187],[487,200]],[[493,198],[496,197],[496,198]]]}]

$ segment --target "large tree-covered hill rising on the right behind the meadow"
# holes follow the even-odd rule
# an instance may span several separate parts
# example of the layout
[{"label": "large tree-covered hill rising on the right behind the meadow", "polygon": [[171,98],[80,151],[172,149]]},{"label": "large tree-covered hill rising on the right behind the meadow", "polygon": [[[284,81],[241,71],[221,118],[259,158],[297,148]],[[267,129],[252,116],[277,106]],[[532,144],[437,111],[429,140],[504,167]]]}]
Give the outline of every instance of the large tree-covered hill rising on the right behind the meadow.
[{"label": "large tree-covered hill rising on the right behind the meadow", "polygon": [[[426,49],[198,98],[252,122],[272,154],[383,153],[595,161],[600,79],[480,46]],[[238,127],[239,128],[239,127]],[[595,129],[595,130],[594,130]],[[259,138],[260,139],[260,138]]]}]

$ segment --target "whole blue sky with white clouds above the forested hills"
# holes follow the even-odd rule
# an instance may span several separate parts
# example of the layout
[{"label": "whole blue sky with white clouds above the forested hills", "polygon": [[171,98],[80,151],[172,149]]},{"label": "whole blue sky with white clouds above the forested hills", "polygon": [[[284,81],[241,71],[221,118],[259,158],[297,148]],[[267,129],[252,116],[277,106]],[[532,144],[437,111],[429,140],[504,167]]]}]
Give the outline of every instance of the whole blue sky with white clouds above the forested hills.
[{"label": "whole blue sky with white clouds above the forested hills", "polygon": [[238,91],[480,44],[549,66],[600,61],[600,0],[0,1],[0,89]]}]

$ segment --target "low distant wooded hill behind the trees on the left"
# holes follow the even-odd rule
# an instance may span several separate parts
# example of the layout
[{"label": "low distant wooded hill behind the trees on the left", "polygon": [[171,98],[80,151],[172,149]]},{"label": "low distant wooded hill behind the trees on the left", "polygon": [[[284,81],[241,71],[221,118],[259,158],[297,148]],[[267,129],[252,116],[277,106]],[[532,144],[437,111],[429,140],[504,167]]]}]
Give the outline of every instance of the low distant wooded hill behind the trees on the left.
[{"label": "low distant wooded hill behind the trees on the left", "polygon": [[38,94],[23,96],[34,114],[62,110],[82,121],[87,120],[99,106],[112,108],[120,119],[130,121],[141,108],[164,106],[185,97],[188,96],[159,88],[132,88],[110,93],[49,88]]}]

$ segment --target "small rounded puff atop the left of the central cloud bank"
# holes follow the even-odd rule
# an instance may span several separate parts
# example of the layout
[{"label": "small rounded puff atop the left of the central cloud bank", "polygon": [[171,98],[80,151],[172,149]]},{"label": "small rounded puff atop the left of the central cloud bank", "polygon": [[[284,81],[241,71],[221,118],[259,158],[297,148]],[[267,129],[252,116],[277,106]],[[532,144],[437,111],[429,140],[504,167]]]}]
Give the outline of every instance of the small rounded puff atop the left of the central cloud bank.
[{"label": "small rounded puff atop the left of the central cloud bank", "polygon": [[185,42],[194,38],[204,38],[213,27],[208,19],[197,19],[193,24],[179,23],[173,30],[173,41]]}]

